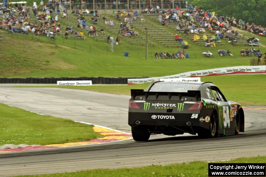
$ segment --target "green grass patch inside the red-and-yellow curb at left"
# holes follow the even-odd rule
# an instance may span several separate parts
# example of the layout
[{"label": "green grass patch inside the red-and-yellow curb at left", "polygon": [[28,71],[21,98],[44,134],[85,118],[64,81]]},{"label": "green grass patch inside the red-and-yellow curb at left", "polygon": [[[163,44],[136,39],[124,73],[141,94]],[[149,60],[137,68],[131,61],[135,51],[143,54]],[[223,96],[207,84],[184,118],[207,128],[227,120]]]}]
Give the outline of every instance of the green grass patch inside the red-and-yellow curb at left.
[{"label": "green grass patch inside the red-and-yellow curb at left", "polygon": [[43,116],[4,104],[0,104],[0,120],[0,145],[49,145],[102,137],[92,130],[93,125]]}]

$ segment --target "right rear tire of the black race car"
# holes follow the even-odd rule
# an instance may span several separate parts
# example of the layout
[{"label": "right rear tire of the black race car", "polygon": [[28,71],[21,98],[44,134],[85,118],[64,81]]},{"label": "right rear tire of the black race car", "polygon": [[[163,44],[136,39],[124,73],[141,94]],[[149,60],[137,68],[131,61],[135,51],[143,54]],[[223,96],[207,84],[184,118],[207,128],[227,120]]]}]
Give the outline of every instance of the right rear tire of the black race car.
[{"label": "right rear tire of the black race car", "polygon": [[198,136],[199,137],[202,137],[202,138],[213,138],[215,136],[216,127],[217,127],[215,112],[212,113],[210,118],[211,118],[211,120],[210,120],[210,123],[209,123],[209,129],[207,129],[207,130],[205,129],[205,130],[202,130],[201,132],[198,132]]}]

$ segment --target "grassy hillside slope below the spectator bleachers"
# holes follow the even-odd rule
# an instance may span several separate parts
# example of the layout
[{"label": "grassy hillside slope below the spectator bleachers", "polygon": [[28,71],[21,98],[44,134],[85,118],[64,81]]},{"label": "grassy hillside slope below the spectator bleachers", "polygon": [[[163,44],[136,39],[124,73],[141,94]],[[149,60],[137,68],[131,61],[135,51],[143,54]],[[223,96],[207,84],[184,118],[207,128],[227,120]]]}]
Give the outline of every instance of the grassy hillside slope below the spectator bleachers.
[{"label": "grassy hillside slope below the spectator bleachers", "polygon": [[[249,65],[248,57],[240,57],[242,47],[231,47],[234,57],[218,57],[219,47],[206,48],[191,43],[187,49],[189,59],[154,59],[154,52],[176,52],[176,48],[167,48],[159,43],[149,46],[148,59],[145,59],[145,46],[131,45],[123,41],[110,45],[105,41],[68,39],[58,36],[56,42],[47,37],[32,34],[8,34],[4,32],[4,42],[0,47],[0,77],[79,77],[79,76],[166,76],[186,71],[196,71],[216,67]],[[25,47],[22,47],[25,46]],[[224,48],[226,49],[226,48]],[[202,57],[203,50],[210,50],[214,57]],[[124,57],[129,52],[129,57]]]}]

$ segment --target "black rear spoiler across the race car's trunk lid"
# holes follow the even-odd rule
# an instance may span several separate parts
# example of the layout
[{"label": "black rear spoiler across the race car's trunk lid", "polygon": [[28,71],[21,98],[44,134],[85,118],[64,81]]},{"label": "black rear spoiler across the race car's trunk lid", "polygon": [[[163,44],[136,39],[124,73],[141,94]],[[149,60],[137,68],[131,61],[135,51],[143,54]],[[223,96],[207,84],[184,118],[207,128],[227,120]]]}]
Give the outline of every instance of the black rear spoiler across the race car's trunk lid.
[{"label": "black rear spoiler across the race car's trunk lid", "polygon": [[157,92],[131,89],[132,100],[161,100],[161,101],[201,101],[200,91],[187,92]]}]

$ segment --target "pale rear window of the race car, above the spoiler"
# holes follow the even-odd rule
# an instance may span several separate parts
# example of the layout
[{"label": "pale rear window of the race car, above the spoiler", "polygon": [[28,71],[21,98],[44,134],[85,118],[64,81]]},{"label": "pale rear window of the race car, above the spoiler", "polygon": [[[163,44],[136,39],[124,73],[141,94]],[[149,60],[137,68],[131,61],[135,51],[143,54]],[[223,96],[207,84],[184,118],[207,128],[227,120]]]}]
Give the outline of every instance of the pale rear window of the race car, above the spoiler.
[{"label": "pale rear window of the race car, above the spoiler", "polygon": [[187,92],[188,90],[198,90],[200,85],[181,83],[155,83],[150,91],[161,92]]}]

